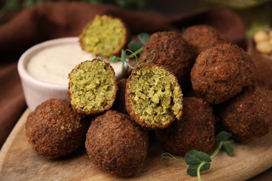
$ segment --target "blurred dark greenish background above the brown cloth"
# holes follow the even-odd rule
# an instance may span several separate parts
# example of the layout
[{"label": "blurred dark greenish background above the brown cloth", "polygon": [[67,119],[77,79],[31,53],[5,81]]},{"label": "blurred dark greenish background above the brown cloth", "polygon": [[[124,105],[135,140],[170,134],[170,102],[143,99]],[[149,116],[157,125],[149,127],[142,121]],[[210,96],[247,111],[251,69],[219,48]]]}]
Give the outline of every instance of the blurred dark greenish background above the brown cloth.
[{"label": "blurred dark greenish background above the brown cloth", "polygon": [[[0,24],[7,22],[18,11],[47,1],[75,0],[0,0]],[[156,10],[166,15],[181,15],[194,10],[225,7],[241,16],[247,37],[257,30],[266,30],[272,25],[272,0],[76,0],[86,3],[104,3],[121,8]]]}]

